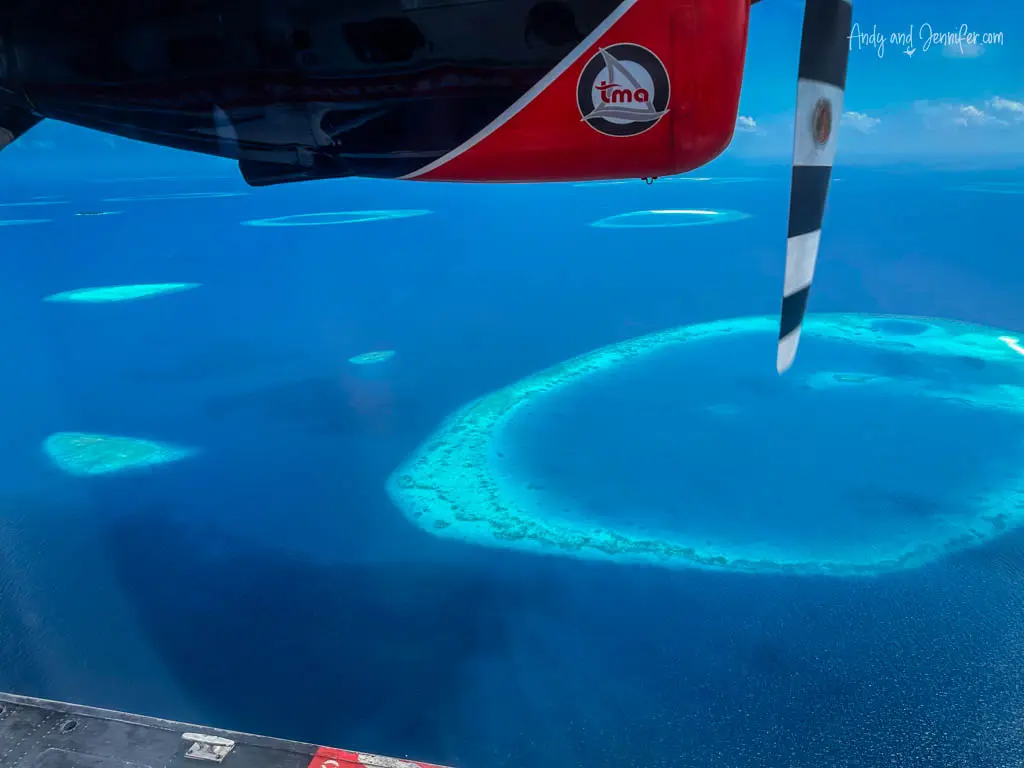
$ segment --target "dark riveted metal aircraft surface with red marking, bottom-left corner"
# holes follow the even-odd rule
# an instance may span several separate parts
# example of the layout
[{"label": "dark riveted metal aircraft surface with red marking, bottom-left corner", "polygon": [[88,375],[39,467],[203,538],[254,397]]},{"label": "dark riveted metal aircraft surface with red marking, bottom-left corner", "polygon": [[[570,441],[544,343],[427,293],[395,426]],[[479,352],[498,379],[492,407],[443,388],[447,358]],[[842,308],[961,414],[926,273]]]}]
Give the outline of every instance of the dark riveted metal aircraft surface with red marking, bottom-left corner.
[{"label": "dark riveted metal aircraft surface with red marking, bottom-left corner", "polygon": [[437,768],[0,693],[0,768]]}]

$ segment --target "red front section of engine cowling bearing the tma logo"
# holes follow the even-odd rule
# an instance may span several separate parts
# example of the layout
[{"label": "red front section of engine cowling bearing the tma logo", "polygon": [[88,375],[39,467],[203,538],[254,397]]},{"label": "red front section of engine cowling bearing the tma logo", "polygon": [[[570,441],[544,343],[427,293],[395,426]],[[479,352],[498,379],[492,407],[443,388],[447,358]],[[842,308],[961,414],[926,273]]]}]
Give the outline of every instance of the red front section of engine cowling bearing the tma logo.
[{"label": "red front section of engine cowling bearing the tma logo", "polygon": [[697,168],[732,138],[748,0],[627,0],[490,126],[407,178],[556,181]]}]

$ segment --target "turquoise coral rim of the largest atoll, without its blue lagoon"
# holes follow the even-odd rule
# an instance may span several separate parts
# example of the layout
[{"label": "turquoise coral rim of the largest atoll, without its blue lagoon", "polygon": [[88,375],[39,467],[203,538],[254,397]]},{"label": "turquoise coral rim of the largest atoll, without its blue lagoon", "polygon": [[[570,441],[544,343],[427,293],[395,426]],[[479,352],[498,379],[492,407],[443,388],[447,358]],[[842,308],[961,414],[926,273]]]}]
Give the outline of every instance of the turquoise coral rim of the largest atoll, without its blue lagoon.
[{"label": "turquoise coral rim of the largest atoll, without its blue lagoon", "polygon": [[[916,496],[906,489],[886,490],[865,484],[856,492],[859,497],[855,502],[877,510],[881,504],[878,500],[882,499],[908,519],[919,515],[927,536],[914,535],[879,548],[864,547],[842,558],[831,552],[818,553],[820,556],[805,551],[795,554],[770,542],[757,547],[733,546],[685,531],[645,535],[588,518],[586,513],[569,509],[571,499],[562,498],[554,505],[538,502],[540,496],[522,490],[528,487],[530,478],[516,476],[515,468],[496,450],[517,414],[529,412],[591,377],[698,342],[694,349],[708,349],[708,342],[726,343],[727,339],[759,334],[770,345],[777,332],[775,316],[740,317],[675,328],[566,360],[486,394],[453,414],[391,474],[388,494],[407,518],[425,530],[468,543],[587,559],[745,572],[873,575],[918,567],[1024,523],[1022,470],[1000,477],[994,487],[989,482],[981,489],[973,489],[963,505],[955,505],[954,515],[935,511],[936,504],[923,496],[928,492],[924,478],[924,485],[915,485],[921,492]],[[808,315],[803,333],[810,341],[808,346],[815,343],[813,340],[824,340],[846,345],[851,353],[859,350],[868,358],[876,352],[912,352],[934,358],[936,367],[943,370],[956,369],[965,359],[971,359],[977,366],[963,370],[974,371],[981,378],[969,386],[953,386],[945,380],[891,376],[886,372],[818,371],[803,376],[795,372],[781,380],[786,387],[809,392],[836,388],[851,394],[882,391],[900,397],[924,397],[931,402],[940,400],[962,410],[978,409],[989,414],[999,411],[1014,418],[1024,417],[1024,366],[1020,355],[1001,341],[1006,332],[924,317],[818,314]],[[805,347],[805,354],[807,351]],[[765,360],[770,365],[768,355]],[[1009,383],[985,378],[998,367],[1005,367]],[[738,373],[740,379],[743,375]],[[723,416],[739,416],[738,407],[731,403],[707,408],[721,411]],[[756,415],[744,414],[748,418]],[[743,420],[730,423],[742,424]],[[916,482],[912,476],[911,481]],[[870,483],[871,479],[859,478],[858,482]],[[685,505],[687,499],[679,501]],[[628,519],[630,510],[623,512]],[[692,512],[714,514],[715,509]]]}]

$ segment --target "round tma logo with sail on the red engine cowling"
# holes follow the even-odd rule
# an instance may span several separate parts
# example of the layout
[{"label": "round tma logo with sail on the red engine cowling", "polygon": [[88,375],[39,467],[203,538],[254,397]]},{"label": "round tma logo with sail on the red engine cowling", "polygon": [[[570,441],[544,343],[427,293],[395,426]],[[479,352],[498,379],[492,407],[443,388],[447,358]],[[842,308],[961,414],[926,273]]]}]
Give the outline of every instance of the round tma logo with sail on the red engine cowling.
[{"label": "round tma logo with sail on the red engine cowling", "polygon": [[636,136],[669,111],[669,71],[643,46],[618,43],[601,48],[577,84],[584,121],[607,136]]}]

